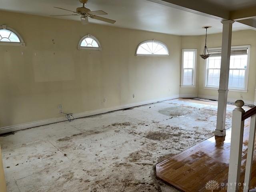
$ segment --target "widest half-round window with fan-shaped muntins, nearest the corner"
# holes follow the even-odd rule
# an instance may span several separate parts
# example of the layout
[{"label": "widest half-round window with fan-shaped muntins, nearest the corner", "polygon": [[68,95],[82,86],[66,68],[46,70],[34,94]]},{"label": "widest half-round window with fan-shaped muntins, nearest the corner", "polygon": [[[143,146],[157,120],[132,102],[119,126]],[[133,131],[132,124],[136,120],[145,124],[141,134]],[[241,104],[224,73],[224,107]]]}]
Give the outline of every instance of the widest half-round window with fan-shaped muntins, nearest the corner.
[{"label": "widest half-round window with fan-shaped muntins, nearest the corner", "polygon": [[169,55],[169,51],[164,43],[156,40],[148,40],[140,43],[136,50],[136,55]]}]

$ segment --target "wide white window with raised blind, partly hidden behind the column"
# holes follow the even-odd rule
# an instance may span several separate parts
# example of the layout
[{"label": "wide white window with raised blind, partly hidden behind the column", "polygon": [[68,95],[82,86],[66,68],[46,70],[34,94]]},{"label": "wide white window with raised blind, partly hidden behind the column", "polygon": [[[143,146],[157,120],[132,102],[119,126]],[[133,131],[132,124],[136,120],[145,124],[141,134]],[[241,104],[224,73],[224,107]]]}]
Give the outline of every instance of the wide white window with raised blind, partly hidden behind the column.
[{"label": "wide white window with raised blind, partly hidden behind the column", "polygon": [[[221,48],[210,48],[212,54],[206,60],[206,88],[218,88],[220,83]],[[247,91],[249,72],[250,46],[232,46],[228,88],[230,90]]]}]

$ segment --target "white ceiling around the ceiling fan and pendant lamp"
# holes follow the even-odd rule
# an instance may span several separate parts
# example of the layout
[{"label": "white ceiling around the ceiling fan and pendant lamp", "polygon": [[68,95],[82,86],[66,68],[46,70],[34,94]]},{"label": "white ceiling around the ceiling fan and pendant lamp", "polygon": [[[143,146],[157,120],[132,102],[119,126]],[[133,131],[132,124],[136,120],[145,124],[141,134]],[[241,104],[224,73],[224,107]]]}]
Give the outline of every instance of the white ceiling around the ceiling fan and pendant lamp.
[{"label": "white ceiling around the ceiling fan and pendant lamp", "polygon": [[[223,2],[223,0],[214,1]],[[234,7],[239,6],[240,0],[235,1],[238,4],[234,4]],[[68,11],[58,10],[53,6],[76,10],[81,4],[79,0],[0,0],[0,10],[42,16],[70,14]],[[88,0],[86,7],[90,10],[104,10],[107,12],[106,18],[116,20],[115,24],[108,24],[111,26],[175,35],[203,35],[205,30],[202,29],[202,26],[212,26],[208,30],[209,34],[222,32],[222,24],[219,20],[148,0]],[[80,20],[79,16],[63,16],[59,18]],[[90,19],[90,22],[106,24],[94,19]],[[233,30],[244,29],[249,29],[249,27],[237,22],[233,24]]]}]

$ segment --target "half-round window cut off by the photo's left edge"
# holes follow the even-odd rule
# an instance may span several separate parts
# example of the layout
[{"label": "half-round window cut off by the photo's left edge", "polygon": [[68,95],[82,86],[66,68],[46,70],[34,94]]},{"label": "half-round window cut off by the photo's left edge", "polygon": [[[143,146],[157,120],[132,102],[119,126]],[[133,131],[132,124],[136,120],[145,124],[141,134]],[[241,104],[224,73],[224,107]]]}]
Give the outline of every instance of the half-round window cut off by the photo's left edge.
[{"label": "half-round window cut off by the photo's left edge", "polygon": [[25,45],[20,35],[15,30],[5,25],[0,26],[0,44]]}]

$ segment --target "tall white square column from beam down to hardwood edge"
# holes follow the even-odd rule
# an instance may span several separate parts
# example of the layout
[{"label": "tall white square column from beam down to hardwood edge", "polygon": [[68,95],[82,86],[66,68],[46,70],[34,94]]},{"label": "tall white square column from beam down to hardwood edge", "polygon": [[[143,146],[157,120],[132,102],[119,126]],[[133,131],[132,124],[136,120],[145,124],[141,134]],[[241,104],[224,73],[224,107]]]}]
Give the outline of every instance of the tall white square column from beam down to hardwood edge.
[{"label": "tall white square column from beam down to hardwood edge", "polygon": [[215,136],[225,136],[226,129],[226,107],[228,100],[228,76],[231,51],[232,24],[234,21],[222,21],[222,48],[221,48],[221,65],[220,65],[220,86],[218,96],[218,114]]}]

